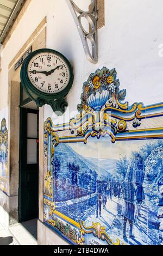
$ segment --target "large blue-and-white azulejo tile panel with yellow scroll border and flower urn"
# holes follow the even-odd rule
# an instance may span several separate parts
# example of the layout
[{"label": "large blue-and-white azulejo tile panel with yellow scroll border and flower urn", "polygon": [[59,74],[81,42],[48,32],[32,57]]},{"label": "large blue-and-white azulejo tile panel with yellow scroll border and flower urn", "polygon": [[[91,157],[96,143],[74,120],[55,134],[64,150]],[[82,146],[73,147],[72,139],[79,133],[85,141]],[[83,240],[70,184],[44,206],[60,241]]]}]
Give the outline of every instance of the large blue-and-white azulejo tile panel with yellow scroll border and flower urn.
[{"label": "large blue-and-white azulejo tile panel with yellow scroll border and flower urn", "polygon": [[96,70],[77,117],[45,121],[44,222],[74,245],[163,243],[163,103],[128,106],[119,86]]}]

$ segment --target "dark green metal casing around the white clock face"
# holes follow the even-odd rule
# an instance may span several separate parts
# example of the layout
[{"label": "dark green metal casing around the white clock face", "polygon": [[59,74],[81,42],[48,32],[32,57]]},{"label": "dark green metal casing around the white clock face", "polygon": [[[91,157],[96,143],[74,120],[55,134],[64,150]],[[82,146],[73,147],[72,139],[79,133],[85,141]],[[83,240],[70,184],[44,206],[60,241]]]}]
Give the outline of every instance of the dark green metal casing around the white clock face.
[{"label": "dark green metal casing around the white clock face", "polygon": [[[43,93],[37,88],[35,88],[32,82],[30,82],[29,80],[27,69],[28,69],[28,64],[30,62],[30,59],[32,59],[36,54],[39,54],[42,52],[51,52],[58,55],[60,58],[64,60],[64,62],[68,66],[68,70],[70,72],[70,80],[68,81],[66,88],[61,90],[61,92],[54,93],[54,94]],[[53,111],[57,115],[64,114],[65,109],[68,106],[65,100],[65,96],[68,94],[73,84],[73,68],[70,62],[68,61],[68,59],[64,55],[62,55],[60,52],[57,52],[55,50],[48,49],[48,48],[42,48],[42,49],[36,50],[30,53],[27,59],[22,64],[20,76],[21,76],[21,86],[24,88],[28,96],[36,102],[36,105],[38,107],[42,107],[43,105],[48,104],[52,107]]]}]

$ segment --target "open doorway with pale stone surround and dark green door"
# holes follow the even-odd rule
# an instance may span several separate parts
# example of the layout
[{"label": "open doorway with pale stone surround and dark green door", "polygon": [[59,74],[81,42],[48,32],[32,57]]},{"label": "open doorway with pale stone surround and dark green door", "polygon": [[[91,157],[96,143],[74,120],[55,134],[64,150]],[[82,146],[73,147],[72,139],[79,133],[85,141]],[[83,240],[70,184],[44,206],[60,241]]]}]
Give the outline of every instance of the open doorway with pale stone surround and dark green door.
[{"label": "open doorway with pale stone surround and dark green door", "polygon": [[[16,53],[14,58],[12,58],[9,63],[8,69],[8,120],[9,120],[9,229],[11,233],[16,237],[16,240],[21,245],[36,245],[37,240],[33,236],[37,231],[37,217],[38,217],[38,201],[39,201],[39,219],[43,221],[43,107],[37,108],[34,101],[31,101],[25,92],[21,91],[20,86],[20,70],[23,56],[26,55],[28,49],[32,46],[32,51],[39,48],[46,48],[46,17],[39,23],[35,28],[33,33],[29,36],[24,45]],[[21,96],[20,96],[21,93]],[[26,109],[23,111],[22,109]],[[34,113],[28,113],[28,110],[37,111],[37,122],[39,116],[39,129],[37,123],[37,136],[27,137],[27,127],[28,127],[28,115]],[[30,111],[30,110],[29,110]],[[38,112],[39,111],[39,112]],[[25,113],[26,112],[26,113]],[[21,115],[21,118],[20,118]],[[26,118],[25,118],[26,117]],[[34,115],[33,115],[34,118]],[[24,121],[23,123],[23,120]],[[30,122],[29,122],[30,124]],[[33,126],[33,124],[31,125]],[[38,131],[39,130],[39,131]],[[24,132],[26,131],[26,133]],[[23,137],[24,133],[26,134]],[[38,141],[38,133],[39,141]],[[23,138],[25,140],[25,146],[23,146]],[[37,143],[37,161],[33,163],[27,163],[27,139],[32,141],[35,139]],[[33,141],[29,142],[29,147],[32,147]],[[23,151],[23,149],[26,149]],[[36,147],[35,147],[36,148]],[[34,149],[32,147],[32,149]],[[38,154],[38,150],[40,151]],[[24,153],[23,153],[24,152]],[[30,150],[28,150],[30,153]],[[31,151],[32,153],[32,151]],[[39,155],[39,161],[38,161]],[[32,159],[32,156],[30,157]],[[38,163],[39,162],[39,163]],[[28,165],[29,164],[29,165]],[[28,173],[28,167],[35,164],[35,172]],[[39,170],[38,170],[39,166]],[[39,174],[38,174],[39,173]],[[30,175],[29,175],[30,174]],[[38,181],[39,175],[39,181]],[[29,185],[29,186],[28,186]],[[38,187],[39,187],[39,198],[38,199]],[[35,188],[36,193],[30,190],[30,188]],[[34,197],[32,196],[34,194]],[[32,202],[33,201],[33,202]],[[28,220],[28,221],[27,221]],[[26,225],[26,227],[25,227]],[[35,230],[31,230],[34,228]],[[30,235],[32,234],[32,235]],[[28,237],[26,236],[28,235]]]}]

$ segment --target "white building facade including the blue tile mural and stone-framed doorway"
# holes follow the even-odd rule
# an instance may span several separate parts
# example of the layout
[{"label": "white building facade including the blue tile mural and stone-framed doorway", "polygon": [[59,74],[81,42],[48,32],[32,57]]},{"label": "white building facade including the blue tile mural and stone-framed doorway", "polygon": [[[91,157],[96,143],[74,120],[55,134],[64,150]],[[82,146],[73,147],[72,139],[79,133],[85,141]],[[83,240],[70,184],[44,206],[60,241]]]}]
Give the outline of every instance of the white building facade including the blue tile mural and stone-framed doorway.
[{"label": "white building facade including the blue tile mural and stone-framed doorway", "polygon": [[[83,10],[89,9],[90,1],[74,2]],[[160,245],[163,4],[161,0],[99,2],[102,25],[97,29],[97,63],[87,59],[65,0],[25,1],[2,43],[1,221],[10,226],[37,217],[39,245]],[[73,67],[68,107],[60,116],[49,105],[38,108],[21,89],[21,63],[18,68],[15,65],[26,52],[41,48],[62,53]],[[103,123],[96,122],[96,109],[83,100],[91,93],[89,81],[96,95],[100,87],[101,94],[105,90],[104,82],[110,88],[117,78],[120,86],[115,86],[115,91],[125,99],[117,94],[119,105],[110,105],[106,99],[101,108],[109,112],[104,112]],[[89,95],[85,97],[87,100]],[[139,102],[143,102],[141,106]],[[84,118],[85,127],[78,115]],[[110,118],[114,119],[111,123]],[[89,120],[94,126],[88,129]],[[46,141],[47,127],[59,142],[54,153],[45,149],[45,145],[52,147]],[[80,133],[79,127],[85,132]],[[53,192],[46,193],[45,187]],[[103,236],[98,236],[100,230]]]}]

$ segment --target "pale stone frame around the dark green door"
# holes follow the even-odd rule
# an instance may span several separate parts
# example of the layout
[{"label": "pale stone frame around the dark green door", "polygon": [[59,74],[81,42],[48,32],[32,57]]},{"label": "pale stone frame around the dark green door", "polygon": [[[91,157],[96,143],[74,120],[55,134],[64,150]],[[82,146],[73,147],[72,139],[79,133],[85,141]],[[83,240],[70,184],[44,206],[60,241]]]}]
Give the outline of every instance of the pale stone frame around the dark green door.
[{"label": "pale stone frame around the dark green door", "polygon": [[[15,70],[15,64],[32,45],[33,51],[46,48],[46,16],[42,19],[34,32],[29,36],[21,49],[8,65],[8,195],[9,195],[9,224],[19,221],[19,146],[20,146],[20,69]],[[24,102],[25,103],[25,102]],[[28,103],[28,102],[26,102]],[[39,109],[39,218],[43,221],[43,123],[44,106]],[[12,197],[12,198],[11,198]]]}]

